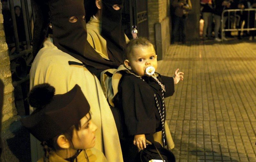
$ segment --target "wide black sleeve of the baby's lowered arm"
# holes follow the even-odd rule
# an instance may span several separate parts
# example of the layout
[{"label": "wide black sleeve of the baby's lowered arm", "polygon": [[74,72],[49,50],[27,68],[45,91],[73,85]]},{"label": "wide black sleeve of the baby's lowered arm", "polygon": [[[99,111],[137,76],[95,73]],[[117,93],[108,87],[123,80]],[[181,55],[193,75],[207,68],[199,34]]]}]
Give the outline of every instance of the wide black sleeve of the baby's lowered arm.
[{"label": "wide black sleeve of the baby's lowered arm", "polygon": [[156,131],[154,91],[145,81],[126,75],[121,88],[122,110],[128,135],[150,134]]}]

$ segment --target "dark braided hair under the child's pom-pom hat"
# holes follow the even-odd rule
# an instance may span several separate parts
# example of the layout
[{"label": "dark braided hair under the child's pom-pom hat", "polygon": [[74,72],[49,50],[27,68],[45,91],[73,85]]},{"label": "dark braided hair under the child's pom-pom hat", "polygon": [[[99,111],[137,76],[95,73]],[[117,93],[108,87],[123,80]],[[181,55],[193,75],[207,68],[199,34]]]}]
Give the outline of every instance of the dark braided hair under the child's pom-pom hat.
[{"label": "dark braided hair under the child's pom-pom hat", "polygon": [[[90,117],[88,118],[88,121],[91,119],[91,113]],[[70,144],[72,143],[72,138],[73,138],[73,132],[74,130],[80,130],[81,129],[81,122],[79,121],[78,123],[74,124],[73,126],[71,126],[66,132],[63,132],[60,135],[64,135]],[[47,141],[43,141],[41,143],[41,145],[43,146],[44,149],[44,162],[49,162],[49,156],[50,156],[50,151],[57,151],[60,150],[60,146],[57,143],[57,139],[60,135],[55,136],[52,139],[49,139]]]}]

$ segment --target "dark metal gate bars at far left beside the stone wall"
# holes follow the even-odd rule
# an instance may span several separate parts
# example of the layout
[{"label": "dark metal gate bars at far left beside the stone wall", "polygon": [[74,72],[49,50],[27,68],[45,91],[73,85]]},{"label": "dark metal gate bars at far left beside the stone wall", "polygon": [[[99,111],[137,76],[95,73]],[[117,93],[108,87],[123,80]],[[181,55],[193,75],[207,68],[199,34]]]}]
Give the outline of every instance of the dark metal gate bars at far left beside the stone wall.
[{"label": "dark metal gate bars at far left beside the stone wall", "polygon": [[[20,7],[21,7],[21,13],[23,16],[23,22],[24,22],[24,35],[25,39],[19,38],[18,34],[18,22],[16,21],[15,16],[15,6],[13,0],[9,0],[9,9],[12,19],[12,26],[9,26],[12,28],[12,34],[10,36],[11,41],[8,43],[9,48],[9,56],[10,56],[10,62],[11,62],[11,73],[12,73],[12,85],[14,87],[20,86],[22,90],[22,97],[23,97],[23,103],[25,108],[25,114],[29,114],[29,107],[28,103],[26,101],[27,94],[29,89],[27,88],[27,82],[29,81],[29,70],[31,67],[31,62],[33,60],[33,53],[32,53],[32,32],[31,32],[31,20],[29,17],[29,2],[30,0],[20,0]],[[17,1],[16,1],[17,3]],[[32,9],[32,18],[35,20],[35,14]],[[32,21],[33,21],[32,20]],[[4,20],[7,21],[7,20]],[[9,29],[10,29],[9,28]],[[5,29],[6,30],[6,29]],[[5,33],[6,36],[8,33]],[[10,33],[9,33],[10,34]],[[16,105],[17,108],[17,105]],[[17,108],[18,109],[18,108]]]}]

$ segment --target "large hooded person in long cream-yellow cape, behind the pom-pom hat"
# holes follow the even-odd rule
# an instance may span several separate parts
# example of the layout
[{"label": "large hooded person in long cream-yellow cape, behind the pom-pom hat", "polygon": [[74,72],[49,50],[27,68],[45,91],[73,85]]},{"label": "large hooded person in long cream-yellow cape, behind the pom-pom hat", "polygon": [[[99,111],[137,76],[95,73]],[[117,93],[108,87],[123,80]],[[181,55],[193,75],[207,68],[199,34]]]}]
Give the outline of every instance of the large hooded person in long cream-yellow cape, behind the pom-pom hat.
[{"label": "large hooded person in long cream-yellow cape, behind the pom-pom hat", "polygon": [[[56,94],[64,94],[79,85],[91,106],[92,122],[98,127],[95,148],[108,161],[123,161],[115,121],[96,77],[100,70],[113,68],[115,63],[102,58],[87,42],[84,1],[33,0],[32,3],[36,12],[33,39],[36,57],[30,70],[30,88],[49,83]],[[51,30],[52,36],[45,38]],[[31,140],[32,161],[41,154],[41,146],[35,141]]]}]

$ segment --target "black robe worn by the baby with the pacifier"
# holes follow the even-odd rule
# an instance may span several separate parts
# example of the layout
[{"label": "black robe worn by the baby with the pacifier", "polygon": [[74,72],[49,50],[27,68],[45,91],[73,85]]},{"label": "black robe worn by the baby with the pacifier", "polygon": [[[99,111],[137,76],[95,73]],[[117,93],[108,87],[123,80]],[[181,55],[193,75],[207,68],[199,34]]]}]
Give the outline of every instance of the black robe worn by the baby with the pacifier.
[{"label": "black robe worn by the baby with the pacifier", "polygon": [[[153,141],[153,134],[162,130],[154,97],[156,94],[162,112],[161,86],[152,77],[145,76],[142,79],[133,74],[124,74],[118,85],[118,93],[113,99],[113,103],[120,110],[119,139],[124,162],[134,161],[138,153],[137,146],[133,145],[134,135],[145,134],[147,140]],[[172,96],[174,93],[173,78],[159,74],[157,79],[165,86],[164,97]],[[166,109],[164,122],[165,117]]]}]

